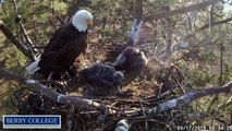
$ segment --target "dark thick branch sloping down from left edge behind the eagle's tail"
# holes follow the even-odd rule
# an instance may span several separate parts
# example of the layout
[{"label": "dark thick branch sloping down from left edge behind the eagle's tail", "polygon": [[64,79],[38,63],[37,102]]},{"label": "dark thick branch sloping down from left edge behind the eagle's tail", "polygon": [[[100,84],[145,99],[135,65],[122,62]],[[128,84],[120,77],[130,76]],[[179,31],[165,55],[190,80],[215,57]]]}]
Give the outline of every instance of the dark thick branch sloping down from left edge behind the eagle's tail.
[{"label": "dark thick branch sloping down from left edge behind the eagle's tail", "polygon": [[2,31],[4,36],[12,44],[14,44],[27,58],[29,58],[30,60],[34,60],[34,55],[32,53],[32,51],[15,38],[14,34],[3,24],[1,20],[0,20],[0,29]]}]

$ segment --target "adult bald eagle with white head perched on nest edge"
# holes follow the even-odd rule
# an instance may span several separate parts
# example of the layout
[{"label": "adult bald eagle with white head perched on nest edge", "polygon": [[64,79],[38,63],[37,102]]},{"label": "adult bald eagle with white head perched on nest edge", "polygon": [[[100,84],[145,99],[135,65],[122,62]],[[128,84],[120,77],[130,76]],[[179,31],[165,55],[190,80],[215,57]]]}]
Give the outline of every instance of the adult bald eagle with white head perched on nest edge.
[{"label": "adult bald eagle with white head perched on nest edge", "polygon": [[76,57],[85,53],[87,28],[93,25],[93,15],[86,10],[75,13],[72,23],[59,27],[46,45],[40,58],[26,68],[26,73],[39,72],[48,76],[51,72],[69,70]]}]

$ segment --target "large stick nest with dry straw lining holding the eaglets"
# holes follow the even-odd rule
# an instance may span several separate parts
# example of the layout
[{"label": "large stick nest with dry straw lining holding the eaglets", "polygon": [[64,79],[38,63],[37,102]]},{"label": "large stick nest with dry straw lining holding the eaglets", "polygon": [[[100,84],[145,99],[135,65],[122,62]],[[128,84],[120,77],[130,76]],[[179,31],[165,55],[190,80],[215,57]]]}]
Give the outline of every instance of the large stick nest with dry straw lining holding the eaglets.
[{"label": "large stick nest with dry straw lining holding the eaglets", "polygon": [[[91,41],[87,55],[82,58],[82,68],[97,61],[112,62],[123,50],[120,44],[109,41]],[[105,50],[102,52],[102,50]],[[146,116],[144,110],[151,109],[160,103],[179,97],[185,93],[185,76],[175,66],[160,66],[150,60],[147,67],[125,74],[126,81],[122,94],[110,88],[101,88],[88,84],[81,75],[68,81],[61,93],[85,97],[107,105],[117,112],[110,114],[99,110],[78,109],[58,104],[41,96],[30,94],[24,97],[19,114],[47,114],[62,116],[62,130],[74,131],[112,131],[117,122],[127,119],[132,131],[176,130],[178,126],[190,124],[193,112],[187,106],[176,107],[157,116]],[[56,90],[57,90],[56,88]],[[41,106],[42,105],[42,106]]]}]

